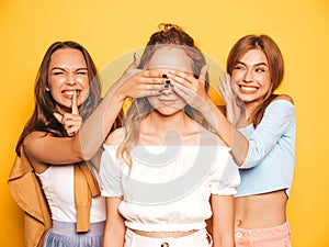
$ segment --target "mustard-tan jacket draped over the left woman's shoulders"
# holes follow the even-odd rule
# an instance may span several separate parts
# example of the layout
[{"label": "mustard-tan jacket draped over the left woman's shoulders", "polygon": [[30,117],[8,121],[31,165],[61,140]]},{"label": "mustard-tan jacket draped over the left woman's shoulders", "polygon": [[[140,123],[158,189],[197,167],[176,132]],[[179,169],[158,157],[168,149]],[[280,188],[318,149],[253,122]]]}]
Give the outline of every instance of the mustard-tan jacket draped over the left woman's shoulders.
[{"label": "mustard-tan jacket draped over the left woman's shoulders", "polygon": [[[24,211],[24,238],[26,247],[43,246],[44,237],[52,228],[52,216],[47,200],[34,169],[21,148],[8,180],[9,189],[19,206]],[[75,199],[77,207],[77,232],[90,228],[91,197],[100,189],[88,165],[75,166]]]}]

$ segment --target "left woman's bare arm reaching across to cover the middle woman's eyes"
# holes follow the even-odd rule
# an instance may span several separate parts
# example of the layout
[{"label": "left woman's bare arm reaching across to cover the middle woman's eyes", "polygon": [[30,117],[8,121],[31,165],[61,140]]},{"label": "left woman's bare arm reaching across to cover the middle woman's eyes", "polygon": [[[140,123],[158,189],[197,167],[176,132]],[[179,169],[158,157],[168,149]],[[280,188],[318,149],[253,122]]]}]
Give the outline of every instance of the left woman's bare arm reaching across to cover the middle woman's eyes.
[{"label": "left woman's bare arm reaching across to cover the middle woman's eyes", "polygon": [[107,136],[125,99],[157,96],[164,85],[161,75],[135,67],[133,64],[115,82],[73,137],[54,137],[43,132],[26,136],[23,148],[32,162],[65,165],[91,159]]}]

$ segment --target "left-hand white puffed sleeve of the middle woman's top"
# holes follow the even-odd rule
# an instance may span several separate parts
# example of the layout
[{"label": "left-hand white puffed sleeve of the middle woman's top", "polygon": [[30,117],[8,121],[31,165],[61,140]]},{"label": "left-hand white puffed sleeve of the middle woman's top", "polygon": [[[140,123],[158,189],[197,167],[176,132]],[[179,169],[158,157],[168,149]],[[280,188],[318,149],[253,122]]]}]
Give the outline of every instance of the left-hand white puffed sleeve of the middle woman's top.
[{"label": "left-hand white puffed sleeve of the middle woman's top", "polygon": [[122,197],[122,169],[116,162],[116,148],[104,146],[100,166],[101,194],[106,198]]}]

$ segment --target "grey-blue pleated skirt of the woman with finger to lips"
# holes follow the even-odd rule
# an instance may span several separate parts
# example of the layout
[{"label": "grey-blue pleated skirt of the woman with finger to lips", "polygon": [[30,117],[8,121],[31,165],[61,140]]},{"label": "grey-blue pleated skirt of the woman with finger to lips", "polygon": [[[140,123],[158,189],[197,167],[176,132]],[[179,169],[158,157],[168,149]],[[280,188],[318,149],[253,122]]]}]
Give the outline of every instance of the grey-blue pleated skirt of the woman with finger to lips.
[{"label": "grey-blue pleated skirt of the woman with finger to lips", "polygon": [[76,223],[53,221],[43,247],[103,247],[105,222],[90,224],[88,233],[77,233]]}]

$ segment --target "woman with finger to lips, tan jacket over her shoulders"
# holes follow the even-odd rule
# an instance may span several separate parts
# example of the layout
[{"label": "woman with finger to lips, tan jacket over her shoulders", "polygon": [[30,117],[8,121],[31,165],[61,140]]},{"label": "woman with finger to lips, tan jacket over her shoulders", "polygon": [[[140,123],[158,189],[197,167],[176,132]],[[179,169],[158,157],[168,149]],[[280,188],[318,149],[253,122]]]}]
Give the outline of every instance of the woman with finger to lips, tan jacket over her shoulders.
[{"label": "woman with finger to lips, tan jacket over her shoulders", "polygon": [[100,103],[101,82],[88,52],[75,42],[56,42],[47,49],[36,78],[35,109],[19,139],[9,181],[26,212],[26,246],[41,246],[52,225],[45,247],[102,246],[105,200],[92,172],[95,155],[115,120],[120,124],[124,100],[157,96],[164,85],[163,78],[137,71],[138,60]]}]

